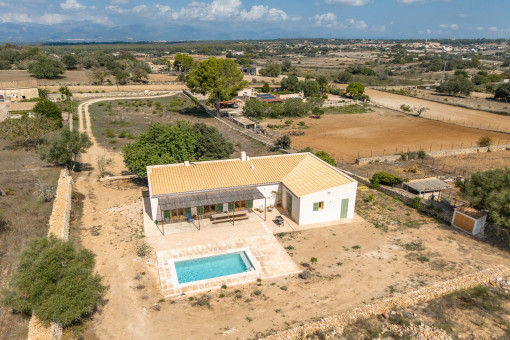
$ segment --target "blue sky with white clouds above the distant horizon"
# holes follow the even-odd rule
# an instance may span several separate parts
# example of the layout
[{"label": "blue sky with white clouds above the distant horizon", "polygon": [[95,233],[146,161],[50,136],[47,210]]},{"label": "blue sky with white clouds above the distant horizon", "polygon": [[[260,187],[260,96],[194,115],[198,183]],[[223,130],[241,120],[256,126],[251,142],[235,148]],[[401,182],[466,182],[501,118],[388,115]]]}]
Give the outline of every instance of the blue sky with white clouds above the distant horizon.
[{"label": "blue sky with white clouds above the distant horizon", "polygon": [[509,38],[510,0],[0,0],[0,41]]}]

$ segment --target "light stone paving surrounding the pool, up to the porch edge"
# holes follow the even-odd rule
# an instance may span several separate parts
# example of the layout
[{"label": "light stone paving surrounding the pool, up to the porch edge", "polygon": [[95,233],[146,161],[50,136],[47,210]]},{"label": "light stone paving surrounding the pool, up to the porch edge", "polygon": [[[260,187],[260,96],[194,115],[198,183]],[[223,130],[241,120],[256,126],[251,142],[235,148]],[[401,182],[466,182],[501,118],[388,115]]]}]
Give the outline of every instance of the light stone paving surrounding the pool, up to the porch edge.
[{"label": "light stone paving surrounding the pool, up to the porch edge", "polygon": [[[171,234],[171,237],[151,237],[146,241],[156,251],[161,290],[165,297],[183,293],[194,294],[221,288],[224,284],[227,286],[246,284],[259,278],[275,278],[300,272],[264,221],[244,223],[235,227],[227,224],[199,232]],[[255,270],[195,283],[177,282],[174,261],[238,250],[246,251]]]}]

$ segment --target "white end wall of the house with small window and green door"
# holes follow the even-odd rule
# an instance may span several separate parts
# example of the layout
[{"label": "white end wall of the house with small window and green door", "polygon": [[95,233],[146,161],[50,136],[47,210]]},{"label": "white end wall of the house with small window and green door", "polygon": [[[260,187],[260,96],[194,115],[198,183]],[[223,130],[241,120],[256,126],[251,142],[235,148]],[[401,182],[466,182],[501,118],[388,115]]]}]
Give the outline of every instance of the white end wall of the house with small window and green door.
[{"label": "white end wall of the house with small window and green door", "polygon": [[[354,217],[357,182],[315,192],[299,199],[300,209],[297,222],[300,225],[340,220],[342,200],[349,199],[347,218]],[[313,211],[315,202],[324,202],[324,209]]]}]

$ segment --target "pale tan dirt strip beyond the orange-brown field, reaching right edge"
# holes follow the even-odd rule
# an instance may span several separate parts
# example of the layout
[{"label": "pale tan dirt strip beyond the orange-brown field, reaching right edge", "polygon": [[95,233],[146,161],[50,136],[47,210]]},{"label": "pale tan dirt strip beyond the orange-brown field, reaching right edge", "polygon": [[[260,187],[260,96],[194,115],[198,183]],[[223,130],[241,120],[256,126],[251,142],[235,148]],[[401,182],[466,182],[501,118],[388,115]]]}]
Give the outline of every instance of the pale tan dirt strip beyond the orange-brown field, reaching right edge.
[{"label": "pale tan dirt strip beyond the orange-brown field, reaching right edge", "polygon": [[479,110],[471,110],[463,107],[446,105],[429,100],[423,100],[408,96],[401,96],[387,92],[367,89],[366,93],[370,96],[370,100],[377,105],[381,105],[393,110],[399,110],[402,104],[414,107],[427,107],[424,118],[440,120],[444,122],[454,123],[462,126],[498,130],[510,132],[510,117],[497,115]]}]

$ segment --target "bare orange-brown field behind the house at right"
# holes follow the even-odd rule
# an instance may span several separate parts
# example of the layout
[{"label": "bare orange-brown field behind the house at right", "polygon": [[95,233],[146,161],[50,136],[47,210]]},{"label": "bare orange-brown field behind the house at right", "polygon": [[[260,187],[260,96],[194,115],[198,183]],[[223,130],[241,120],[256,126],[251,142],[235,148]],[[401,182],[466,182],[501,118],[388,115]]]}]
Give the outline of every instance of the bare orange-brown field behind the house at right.
[{"label": "bare orange-brown field behind the house at right", "polygon": [[[510,117],[503,118],[510,120]],[[495,144],[510,140],[507,134],[422,119],[384,108],[363,114],[325,114],[320,119],[294,120],[304,121],[309,128],[302,130],[305,132],[303,136],[292,136],[292,147],[299,150],[310,146],[314,150],[324,150],[339,162],[342,158],[345,162],[353,162],[358,154],[361,157],[379,156],[406,152],[408,148],[412,151],[459,149],[475,145],[482,136],[491,136]],[[284,124],[284,121],[270,119],[264,120],[263,124]]]}]

